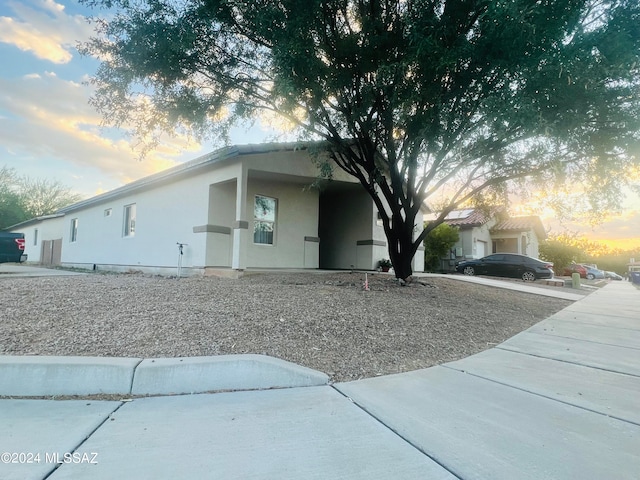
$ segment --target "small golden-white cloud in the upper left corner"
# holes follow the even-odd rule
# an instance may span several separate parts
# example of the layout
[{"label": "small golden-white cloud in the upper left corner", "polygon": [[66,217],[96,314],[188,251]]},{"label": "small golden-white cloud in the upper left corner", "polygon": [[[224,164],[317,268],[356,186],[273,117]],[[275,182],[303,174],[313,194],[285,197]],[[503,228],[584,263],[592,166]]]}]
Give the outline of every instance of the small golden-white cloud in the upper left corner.
[{"label": "small golden-white cloud in the upper left corner", "polygon": [[88,40],[92,27],[82,15],[68,15],[53,0],[8,2],[12,17],[0,17],[0,42],[56,64],[69,63],[78,41]]}]

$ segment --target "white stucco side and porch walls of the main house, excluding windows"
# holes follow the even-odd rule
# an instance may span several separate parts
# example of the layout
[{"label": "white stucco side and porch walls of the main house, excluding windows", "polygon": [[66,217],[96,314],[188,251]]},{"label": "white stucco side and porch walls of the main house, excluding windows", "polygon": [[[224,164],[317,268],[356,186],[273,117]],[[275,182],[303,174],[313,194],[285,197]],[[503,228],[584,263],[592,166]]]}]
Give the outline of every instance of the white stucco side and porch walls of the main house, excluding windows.
[{"label": "white stucco side and porch walls of the main house, excluding windows", "polygon": [[[188,269],[205,266],[230,266],[233,245],[233,223],[249,223],[246,243],[247,267],[316,267],[318,258],[318,193],[304,189],[313,181],[301,182],[298,175],[313,172],[313,164],[305,152],[279,152],[243,157],[248,173],[246,210],[236,214],[237,177],[243,167],[238,161],[212,165],[197,175],[172,179],[144,191],[99,202],[68,212],[64,218],[64,264],[91,268],[122,266],[149,270],[171,269],[178,262],[177,242],[184,247],[182,265]],[[264,172],[282,171],[290,177],[281,181],[260,178]],[[275,177],[276,175],[271,175]],[[288,183],[287,178],[295,183]],[[253,199],[262,194],[278,199],[276,242],[273,246],[253,244]],[[123,236],[124,208],[136,205],[136,230],[131,237]],[[105,216],[106,209],[111,215]],[[77,241],[70,241],[71,221],[78,219]],[[219,228],[224,227],[224,228]],[[228,228],[228,233],[224,229]],[[195,230],[195,231],[194,231]],[[315,258],[314,258],[315,257]],[[166,272],[163,272],[166,273]]]}]

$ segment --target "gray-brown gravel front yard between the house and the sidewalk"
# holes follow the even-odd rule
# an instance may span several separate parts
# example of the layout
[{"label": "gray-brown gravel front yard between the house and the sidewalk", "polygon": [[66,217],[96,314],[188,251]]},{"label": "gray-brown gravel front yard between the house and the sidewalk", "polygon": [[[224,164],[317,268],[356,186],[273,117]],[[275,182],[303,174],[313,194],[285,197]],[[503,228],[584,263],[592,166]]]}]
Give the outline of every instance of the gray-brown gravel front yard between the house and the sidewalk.
[{"label": "gray-brown gravel front yard between the house and the sidewalk", "polygon": [[261,353],[348,381],[490,348],[571,302],[428,278],[90,274],[0,280],[0,354]]}]

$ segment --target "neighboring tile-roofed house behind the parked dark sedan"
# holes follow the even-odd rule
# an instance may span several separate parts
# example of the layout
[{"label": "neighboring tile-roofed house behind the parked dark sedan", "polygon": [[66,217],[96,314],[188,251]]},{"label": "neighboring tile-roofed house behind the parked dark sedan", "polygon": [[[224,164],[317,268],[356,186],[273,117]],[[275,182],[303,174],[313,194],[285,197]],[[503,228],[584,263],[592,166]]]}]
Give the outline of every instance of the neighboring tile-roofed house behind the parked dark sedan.
[{"label": "neighboring tile-roofed house behind the parked dark sedan", "polygon": [[443,259],[444,270],[453,270],[456,261],[492,253],[519,253],[537,258],[540,242],[547,237],[539,217],[509,217],[503,209],[454,210],[445,223],[458,227],[460,240],[451,249],[449,258]]}]

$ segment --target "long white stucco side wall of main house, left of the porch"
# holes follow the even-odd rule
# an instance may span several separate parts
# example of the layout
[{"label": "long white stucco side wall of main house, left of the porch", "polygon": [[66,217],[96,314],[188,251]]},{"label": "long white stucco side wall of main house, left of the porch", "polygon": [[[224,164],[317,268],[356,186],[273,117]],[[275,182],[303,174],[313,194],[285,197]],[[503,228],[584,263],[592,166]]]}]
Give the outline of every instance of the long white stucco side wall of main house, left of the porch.
[{"label": "long white stucco side wall of main house, left of the porch", "polygon": [[[206,223],[209,184],[201,177],[183,179],[163,188],[132,193],[65,217],[62,262],[72,264],[173,267],[177,265],[177,242],[187,244],[182,257],[188,268],[204,263],[204,237],[193,226]],[[125,206],[135,204],[135,234],[124,236]],[[111,214],[105,215],[110,209]],[[70,229],[78,219],[78,235]]]}]

